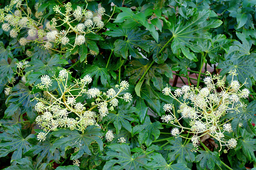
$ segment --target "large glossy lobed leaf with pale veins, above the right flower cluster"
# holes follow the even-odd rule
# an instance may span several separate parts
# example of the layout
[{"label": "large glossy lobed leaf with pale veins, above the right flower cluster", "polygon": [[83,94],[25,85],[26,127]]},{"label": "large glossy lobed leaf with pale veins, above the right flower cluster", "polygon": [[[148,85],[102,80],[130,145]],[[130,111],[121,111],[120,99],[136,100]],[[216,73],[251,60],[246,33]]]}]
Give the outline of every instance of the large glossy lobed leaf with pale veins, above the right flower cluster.
[{"label": "large glossy lobed leaf with pale veins, above the right flower cluster", "polygon": [[210,19],[207,21],[210,13],[210,10],[199,11],[186,22],[182,18],[176,21],[176,16],[170,18],[169,21],[164,17],[160,17],[166,23],[168,30],[173,34],[174,40],[171,47],[174,54],[180,56],[183,53],[188,59],[198,61],[193,53],[200,52],[200,49],[196,46],[196,42],[204,39],[204,33],[207,30],[217,28],[222,24],[220,20]]}]

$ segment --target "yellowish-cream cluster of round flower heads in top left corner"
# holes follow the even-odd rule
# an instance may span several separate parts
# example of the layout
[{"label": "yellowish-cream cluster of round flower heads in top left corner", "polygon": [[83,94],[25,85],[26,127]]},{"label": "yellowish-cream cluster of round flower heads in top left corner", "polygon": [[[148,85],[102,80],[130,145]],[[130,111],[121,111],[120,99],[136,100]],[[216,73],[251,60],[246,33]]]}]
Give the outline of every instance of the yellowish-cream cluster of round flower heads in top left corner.
[{"label": "yellowish-cream cluster of round flower heads in top left corner", "polygon": [[[12,0],[9,6],[0,9],[0,22],[3,23],[3,31],[9,33],[11,38],[18,39],[18,43],[22,47],[34,42],[54,51],[57,51],[55,48],[58,48],[56,44],[61,45],[61,51],[72,50],[75,46],[86,42],[86,34],[95,34],[95,31],[105,25],[101,20],[105,14],[104,8],[99,8],[97,13],[94,13],[88,10],[87,6],[85,9],[80,6],[73,9],[71,3],[68,2],[64,5],[56,5],[53,8],[56,16],[48,21],[43,18],[45,11],[38,12],[41,5],[39,3],[34,5],[35,14],[31,12],[27,1],[23,2],[22,0]],[[13,9],[16,9],[14,13]],[[63,25],[66,28],[61,30]],[[22,30],[26,30],[26,34],[22,33],[23,36],[20,37],[19,33]],[[91,50],[90,52],[92,55],[97,55],[95,51]],[[32,51],[26,51],[26,55],[29,57],[32,54]]]}]

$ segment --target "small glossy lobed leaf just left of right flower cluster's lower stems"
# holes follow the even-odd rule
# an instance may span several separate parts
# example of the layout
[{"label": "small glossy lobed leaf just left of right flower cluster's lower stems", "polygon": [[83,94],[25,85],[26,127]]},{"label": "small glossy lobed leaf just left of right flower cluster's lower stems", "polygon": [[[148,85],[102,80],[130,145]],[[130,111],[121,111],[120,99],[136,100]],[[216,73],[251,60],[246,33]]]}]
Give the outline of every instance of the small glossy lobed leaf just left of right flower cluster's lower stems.
[{"label": "small glossy lobed leaf just left of right flower cluster's lower stems", "polygon": [[158,121],[151,122],[149,116],[145,118],[145,121],[141,125],[136,125],[132,128],[132,135],[139,133],[139,143],[145,143],[146,146],[149,146],[152,143],[153,136],[154,140],[156,140],[160,135],[160,130],[163,127],[161,123]]}]

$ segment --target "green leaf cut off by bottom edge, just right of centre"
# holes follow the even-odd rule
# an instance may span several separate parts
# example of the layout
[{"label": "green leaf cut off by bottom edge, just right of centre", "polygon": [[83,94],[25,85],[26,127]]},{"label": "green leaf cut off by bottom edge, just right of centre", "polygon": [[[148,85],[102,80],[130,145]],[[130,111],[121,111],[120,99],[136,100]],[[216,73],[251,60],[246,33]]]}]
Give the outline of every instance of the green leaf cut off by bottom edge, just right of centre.
[{"label": "green leaf cut off by bottom edge, just right of centre", "polygon": [[167,163],[160,153],[155,153],[154,155],[150,156],[150,158],[152,159],[152,161],[147,163],[148,169],[152,168],[159,170],[189,170],[189,168],[184,163]]}]

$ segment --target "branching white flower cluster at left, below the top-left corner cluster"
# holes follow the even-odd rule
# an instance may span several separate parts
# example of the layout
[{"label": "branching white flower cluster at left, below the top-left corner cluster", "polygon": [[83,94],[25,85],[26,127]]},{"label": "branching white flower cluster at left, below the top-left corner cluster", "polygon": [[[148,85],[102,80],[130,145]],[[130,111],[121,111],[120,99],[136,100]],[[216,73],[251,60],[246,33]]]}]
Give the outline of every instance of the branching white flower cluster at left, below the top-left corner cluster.
[{"label": "branching white flower cluster at left, below the top-left corner cluster", "polygon": [[[59,72],[58,77],[50,78],[48,75],[43,75],[41,83],[36,85],[37,88],[44,91],[43,97],[35,97],[38,101],[35,110],[40,114],[36,118],[36,123],[45,131],[38,134],[37,137],[40,141],[45,140],[49,131],[57,130],[60,127],[76,129],[81,132],[84,132],[90,125],[101,128],[98,123],[108,115],[109,110],[114,110],[118,106],[118,98],[126,102],[132,100],[130,93],[119,96],[123,90],[129,87],[127,81],[122,81],[120,85],[115,86],[115,89],[110,88],[106,92],[101,92],[96,87],[89,89],[88,85],[92,82],[89,75],[74,79],[73,82],[70,82],[70,79],[70,72],[63,69]],[[57,82],[58,88],[49,91],[53,81]],[[93,102],[86,103],[81,98],[90,99],[88,101],[92,101],[93,98]]]}]

